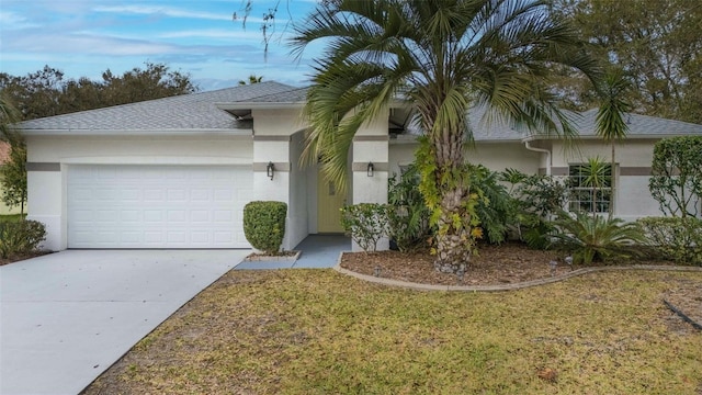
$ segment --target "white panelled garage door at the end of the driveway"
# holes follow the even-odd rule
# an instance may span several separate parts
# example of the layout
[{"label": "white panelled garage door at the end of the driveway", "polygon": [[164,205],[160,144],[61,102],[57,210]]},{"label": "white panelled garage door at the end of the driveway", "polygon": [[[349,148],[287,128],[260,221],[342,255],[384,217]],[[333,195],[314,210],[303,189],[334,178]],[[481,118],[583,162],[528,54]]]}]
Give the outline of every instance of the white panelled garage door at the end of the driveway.
[{"label": "white panelled garage door at the end of the driveway", "polygon": [[71,166],[69,248],[250,248],[248,167]]}]

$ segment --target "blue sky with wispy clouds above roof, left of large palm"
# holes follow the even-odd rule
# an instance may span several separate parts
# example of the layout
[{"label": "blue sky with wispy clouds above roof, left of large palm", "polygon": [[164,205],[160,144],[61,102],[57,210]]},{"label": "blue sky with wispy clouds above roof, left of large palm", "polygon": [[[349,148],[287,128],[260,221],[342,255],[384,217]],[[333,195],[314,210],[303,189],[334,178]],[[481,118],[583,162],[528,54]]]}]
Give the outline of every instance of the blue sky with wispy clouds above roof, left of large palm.
[{"label": "blue sky with wispy clouds above roof, left of large palm", "polygon": [[0,71],[24,76],[48,65],[66,78],[100,79],[145,63],[190,74],[201,90],[230,87],[251,74],[304,86],[314,48],[296,60],[286,37],[314,0],[281,0],[264,54],[262,15],[276,1],[253,0],[246,27],[242,0],[0,0]]}]

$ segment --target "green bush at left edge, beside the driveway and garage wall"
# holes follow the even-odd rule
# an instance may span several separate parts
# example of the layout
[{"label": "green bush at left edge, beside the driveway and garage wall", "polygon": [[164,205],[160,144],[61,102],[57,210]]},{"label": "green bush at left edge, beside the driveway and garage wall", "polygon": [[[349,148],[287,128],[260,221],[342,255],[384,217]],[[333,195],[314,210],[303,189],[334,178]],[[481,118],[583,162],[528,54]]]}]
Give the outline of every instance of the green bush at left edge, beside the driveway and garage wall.
[{"label": "green bush at left edge, beside the driveway and garage wall", "polygon": [[36,221],[0,222],[0,257],[35,251],[46,239],[44,224]]}]

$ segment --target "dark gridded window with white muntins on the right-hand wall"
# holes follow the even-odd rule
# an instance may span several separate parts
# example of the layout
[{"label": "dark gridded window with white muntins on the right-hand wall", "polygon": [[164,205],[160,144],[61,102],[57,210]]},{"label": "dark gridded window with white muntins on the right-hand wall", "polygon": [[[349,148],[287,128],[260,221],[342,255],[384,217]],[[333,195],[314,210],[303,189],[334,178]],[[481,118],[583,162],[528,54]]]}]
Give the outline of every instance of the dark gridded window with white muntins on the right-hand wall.
[{"label": "dark gridded window with white muntins on the right-hand wall", "polygon": [[598,185],[592,182],[593,177],[586,163],[570,165],[568,167],[570,189],[568,210],[570,212],[608,213],[612,194],[611,173],[611,166],[604,166]]}]

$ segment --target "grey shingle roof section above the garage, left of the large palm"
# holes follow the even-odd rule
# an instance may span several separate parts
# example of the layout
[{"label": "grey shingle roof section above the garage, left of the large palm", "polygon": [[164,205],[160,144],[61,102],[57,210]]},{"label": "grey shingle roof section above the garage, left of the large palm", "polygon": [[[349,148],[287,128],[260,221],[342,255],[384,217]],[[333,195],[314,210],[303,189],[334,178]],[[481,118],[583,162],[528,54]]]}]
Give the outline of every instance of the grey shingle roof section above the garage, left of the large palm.
[{"label": "grey shingle roof section above the garage, left of the large palm", "polygon": [[238,121],[215,103],[270,100],[267,98],[297,91],[299,88],[268,81],[32,120],[18,126],[25,131],[95,132],[233,129],[239,127]]}]

